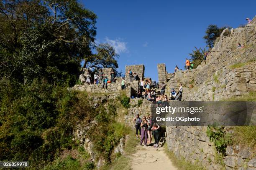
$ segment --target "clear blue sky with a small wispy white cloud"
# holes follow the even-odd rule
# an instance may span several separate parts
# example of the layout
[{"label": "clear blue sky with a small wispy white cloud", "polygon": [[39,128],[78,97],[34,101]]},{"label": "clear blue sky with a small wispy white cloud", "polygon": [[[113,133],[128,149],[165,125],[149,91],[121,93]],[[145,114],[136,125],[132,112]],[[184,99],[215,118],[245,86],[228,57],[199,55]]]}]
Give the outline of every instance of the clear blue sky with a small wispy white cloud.
[{"label": "clear blue sky with a small wispy white cloud", "polygon": [[97,42],[113,45],[125,65],[144,64],[145,76],[158,80],[157,63],[173,72],[183,68],[194,47],[205,47],[208,25],[238,27],[256,15],[256,0],[82,0],[96,13]]}]

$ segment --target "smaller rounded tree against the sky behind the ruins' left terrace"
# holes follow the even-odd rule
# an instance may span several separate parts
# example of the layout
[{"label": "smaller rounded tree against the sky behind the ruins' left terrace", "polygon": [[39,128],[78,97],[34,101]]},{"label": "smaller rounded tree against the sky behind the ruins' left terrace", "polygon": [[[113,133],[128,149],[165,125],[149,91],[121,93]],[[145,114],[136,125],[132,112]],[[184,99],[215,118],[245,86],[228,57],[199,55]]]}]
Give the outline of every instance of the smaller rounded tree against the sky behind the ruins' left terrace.
[{"label": "smaller rounded tree against the sky behind the ruins' left terrace", "polygon": [[117,58],[119,55],[115,49],[109,44],[100,44],[96,47],[97,53],[84,58],[84,67],[87,68],[108,68],[112,67],[114,70],[118,68]]}]

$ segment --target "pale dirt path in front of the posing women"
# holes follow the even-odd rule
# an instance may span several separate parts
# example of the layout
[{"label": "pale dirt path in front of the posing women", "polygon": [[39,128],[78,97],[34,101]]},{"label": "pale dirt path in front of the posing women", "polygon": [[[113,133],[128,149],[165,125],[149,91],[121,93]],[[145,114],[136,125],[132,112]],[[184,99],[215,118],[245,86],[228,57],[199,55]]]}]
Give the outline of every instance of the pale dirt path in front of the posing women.
[{"label": "pale dirt path in front of the posing women", "polygon": [[160,145],[157,149],[153,146],[137,145],[136,149],[137,152],[131,156],[132,170],[177,170]]}]

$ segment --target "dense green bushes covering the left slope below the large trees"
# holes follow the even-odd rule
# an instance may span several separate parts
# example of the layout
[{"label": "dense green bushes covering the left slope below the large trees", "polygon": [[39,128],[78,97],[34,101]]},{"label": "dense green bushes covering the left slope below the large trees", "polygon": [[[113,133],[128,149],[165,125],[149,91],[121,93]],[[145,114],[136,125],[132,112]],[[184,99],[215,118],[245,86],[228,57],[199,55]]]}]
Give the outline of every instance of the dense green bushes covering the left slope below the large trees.
[{"label": "dense green bushes covering the left slope below the large trees", "polygon": [[95,115],[85,95],[36,79],[2,80],[0,96],[0,159],[28,160],[31,168],[72,148],[77,121]]}]

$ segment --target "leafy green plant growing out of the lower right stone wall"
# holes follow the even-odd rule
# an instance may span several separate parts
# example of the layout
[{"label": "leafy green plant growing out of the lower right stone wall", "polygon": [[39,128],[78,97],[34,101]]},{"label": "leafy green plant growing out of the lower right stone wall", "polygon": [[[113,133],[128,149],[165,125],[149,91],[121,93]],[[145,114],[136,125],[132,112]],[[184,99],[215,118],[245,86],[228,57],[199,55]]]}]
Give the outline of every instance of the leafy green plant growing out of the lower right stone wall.
[{"label": "leafy green plant growing out of the lower right stone wall", "polygon": [[223,131],[224,127],[218,127],[216,124],[207,126],[207,136],[214,143],[219,153],[225,154],[227,145],[232,143],[230,134]]}]

